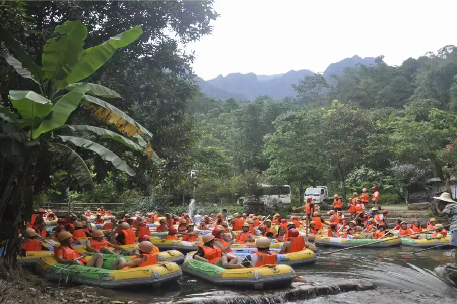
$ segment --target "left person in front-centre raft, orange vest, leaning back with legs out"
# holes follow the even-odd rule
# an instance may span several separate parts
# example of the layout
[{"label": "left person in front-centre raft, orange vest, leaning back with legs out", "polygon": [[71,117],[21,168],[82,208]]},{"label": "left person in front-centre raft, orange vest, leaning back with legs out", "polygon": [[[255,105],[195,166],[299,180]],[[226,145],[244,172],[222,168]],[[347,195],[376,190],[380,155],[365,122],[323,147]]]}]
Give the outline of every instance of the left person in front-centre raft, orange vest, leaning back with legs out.
[{"label": "left person in front-centre raft, orange vest, leaning back with legs out", "polygon": [[203,245],[199,245],[197,252],[193,258],[199,261],[207,262],[227,269],[243,268],[241,257],[232,256],[222,252],[222,250],[214,245],[214,236],[205,234],[202,237]]}]

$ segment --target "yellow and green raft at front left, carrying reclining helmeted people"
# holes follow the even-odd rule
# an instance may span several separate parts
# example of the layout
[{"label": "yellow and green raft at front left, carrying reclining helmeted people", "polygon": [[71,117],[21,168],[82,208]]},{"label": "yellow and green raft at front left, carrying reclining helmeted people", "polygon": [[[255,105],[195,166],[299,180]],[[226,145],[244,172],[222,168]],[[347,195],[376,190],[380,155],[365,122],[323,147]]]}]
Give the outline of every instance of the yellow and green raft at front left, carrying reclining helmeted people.
[{"label": "yellow and green raft at front left, carrying reclining helmeted people", "polygon": [[[90,258],[90,256],[87,256],[84,259],[89,260]],[[107,257],[104,259],[103,267],[110,268],[116,259]],[[110,270],[81,265],[59,264],[54,256],[42,257],[36,264],[36,268],[48,280],[66,280],[70,276],[73,282],[103,288],[143,285],[157,288],[162,283],[178,280],[182,275],[179,266],[171,262],[159,262],[156,265],[146,267]]]}]

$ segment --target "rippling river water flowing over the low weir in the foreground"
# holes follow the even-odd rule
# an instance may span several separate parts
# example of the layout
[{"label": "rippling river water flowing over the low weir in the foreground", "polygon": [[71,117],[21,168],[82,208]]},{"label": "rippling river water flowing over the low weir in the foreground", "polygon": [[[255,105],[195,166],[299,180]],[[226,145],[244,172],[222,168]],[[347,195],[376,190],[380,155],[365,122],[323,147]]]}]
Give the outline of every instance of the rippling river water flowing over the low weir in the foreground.
[{"label": "rippling river water flowing over the low weir in the foreground", "polygon": [[[320,252],[333,250],[321,249]],[[112,300],[162,303],[457,303],[457,288],[444,275],[443,265],[452,261],[450,251],[436,249],[411,254],[416,250],[412,247],[351,249],[319,256],[315,264],[295,267],[296,282],[280,290],[223,290],[184,274],[180,284],[162,286],[159,290],[99,292]],[[342,283],[352,287],[345,289],[340,286]],[[329,289],[328,286],[335,287]],[[306,288],[319,291],[290,296]],[[351,289],[358,291],[342,292]]]}]

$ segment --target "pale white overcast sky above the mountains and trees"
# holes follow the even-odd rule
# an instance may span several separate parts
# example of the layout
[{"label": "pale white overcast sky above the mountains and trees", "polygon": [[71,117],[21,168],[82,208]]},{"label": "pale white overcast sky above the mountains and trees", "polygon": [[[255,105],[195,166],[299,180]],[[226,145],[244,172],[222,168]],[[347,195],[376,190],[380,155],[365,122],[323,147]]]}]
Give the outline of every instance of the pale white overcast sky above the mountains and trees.
[{"label": "pale white overcast sky above the mountains and trees", "polygon": [[213,33],[189,43],[194,71],[323,72],[347,57],[384,55],[389,65],[457,45],[457,0],[216,0]]}]

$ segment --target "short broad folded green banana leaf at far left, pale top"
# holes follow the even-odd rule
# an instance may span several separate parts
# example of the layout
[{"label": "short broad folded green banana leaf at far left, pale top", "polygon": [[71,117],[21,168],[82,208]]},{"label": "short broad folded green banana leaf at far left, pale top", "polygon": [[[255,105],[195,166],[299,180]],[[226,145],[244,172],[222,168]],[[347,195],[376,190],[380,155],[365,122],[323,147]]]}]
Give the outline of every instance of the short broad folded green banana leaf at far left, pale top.
[{"label": "short broad folded green banana leaf at far left, pale top", "polygon": [[51,112],[51,101],[34,91],[10,91],[8,98],[23,118],[43,118]]}]

